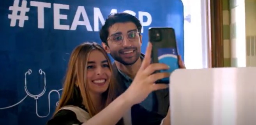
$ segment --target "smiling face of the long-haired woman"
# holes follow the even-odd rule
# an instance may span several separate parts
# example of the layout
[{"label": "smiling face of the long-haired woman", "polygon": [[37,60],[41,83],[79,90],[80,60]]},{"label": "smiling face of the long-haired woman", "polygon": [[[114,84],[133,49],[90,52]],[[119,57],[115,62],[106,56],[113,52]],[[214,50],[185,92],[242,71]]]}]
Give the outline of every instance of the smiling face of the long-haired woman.
[{"label": "smiling face of the long-haired woman", "polygon": [[101,51],[92,50],[87,63],[88,90],[95,94],[102,94],[108,89],[111,77],[108,61]]}]

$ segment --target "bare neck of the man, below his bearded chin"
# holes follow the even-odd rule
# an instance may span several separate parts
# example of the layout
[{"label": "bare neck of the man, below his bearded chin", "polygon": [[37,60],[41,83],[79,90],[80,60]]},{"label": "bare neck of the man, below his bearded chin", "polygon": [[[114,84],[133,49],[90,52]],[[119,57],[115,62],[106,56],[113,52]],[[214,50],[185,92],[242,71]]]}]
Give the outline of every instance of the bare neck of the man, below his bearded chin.
[{"label": "bare neck of the man, below his bearded chin", "polygon": [[141,58],[139,58],[134,64],[132,65],[124,65],[117,61],[115,61],[117,68],[121,70],[123,73],[128,75],[130,78],[134,78],[136,73],[138,72],[140,66],[141,66]]}]

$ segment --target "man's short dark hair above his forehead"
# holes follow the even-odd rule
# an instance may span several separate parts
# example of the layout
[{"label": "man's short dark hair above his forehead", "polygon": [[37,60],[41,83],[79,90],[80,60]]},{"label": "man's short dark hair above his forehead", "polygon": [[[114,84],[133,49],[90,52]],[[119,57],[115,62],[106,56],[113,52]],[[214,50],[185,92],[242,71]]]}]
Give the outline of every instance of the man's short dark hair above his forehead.
[{"label": "man's short dark hair above his forehead", "polygon": [[113,26],[115,23],[126,23],[126,22],[132,22],[136,25],[137,30],[139,33],[141,33],[141,23],[140,21],[131,14],[128,14],[126,12],[120,12],[120,13],[113,13],[108,16],[108,18],[105,21],[105,24],[102,26],[100,30],[100,38],[101,42],[107,43],[108,39],[108,28]]}]

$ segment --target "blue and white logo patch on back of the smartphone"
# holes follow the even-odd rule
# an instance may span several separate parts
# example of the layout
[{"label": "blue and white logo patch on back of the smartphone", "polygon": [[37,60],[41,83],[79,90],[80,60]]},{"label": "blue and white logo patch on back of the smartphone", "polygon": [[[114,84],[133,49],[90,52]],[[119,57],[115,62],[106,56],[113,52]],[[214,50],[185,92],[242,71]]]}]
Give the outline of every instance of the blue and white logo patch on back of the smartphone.
[{"label": "blue and white logo patch on back of the smartphone", "polygon": [[[170,68],[168,70],[161,70],[160,72],[173,72],[178,69],[178,56],[177,50],[175,48],[161,48],[158,49],[158,62],[168,65]],[[169,82],[169,77],[162,79],[164,82]]]}]

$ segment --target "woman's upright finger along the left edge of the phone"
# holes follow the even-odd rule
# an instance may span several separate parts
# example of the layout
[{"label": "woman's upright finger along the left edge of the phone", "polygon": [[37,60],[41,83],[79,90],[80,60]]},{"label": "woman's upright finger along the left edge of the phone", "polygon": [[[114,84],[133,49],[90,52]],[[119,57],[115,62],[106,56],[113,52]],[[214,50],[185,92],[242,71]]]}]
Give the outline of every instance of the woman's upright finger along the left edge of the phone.
[{"label": "woman's upright finger along the left edge of the phone", "polygon": [[147,68],[147,66],[150,64],[151,61],[151,51],[152,51],[152,44],[148,42],[148,46],[145,52],[145,57],[141,64],[141,69]]}]

